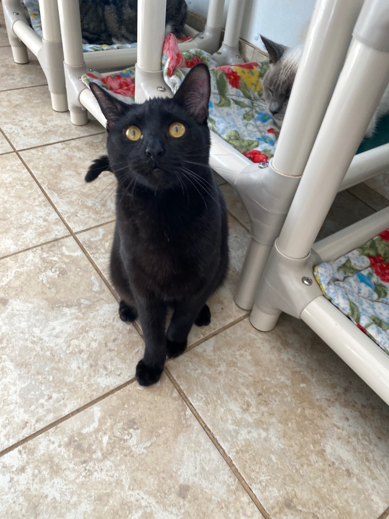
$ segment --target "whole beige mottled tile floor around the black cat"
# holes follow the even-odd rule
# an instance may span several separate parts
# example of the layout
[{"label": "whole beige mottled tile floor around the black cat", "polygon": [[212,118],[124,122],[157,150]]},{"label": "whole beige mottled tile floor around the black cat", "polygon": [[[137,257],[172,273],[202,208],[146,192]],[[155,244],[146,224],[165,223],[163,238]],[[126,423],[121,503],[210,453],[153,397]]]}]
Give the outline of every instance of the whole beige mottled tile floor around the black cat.
[{"label": "whole beige mottled tile floor around the black cat", "polygon": [[[1,16],[0,36],[0,517],[388,517],[389,407],[302,322],[260,333],[233,303],[248,219],[227,184],[212,323],[137,385],[141,330],[107,281],[115,185],[83,182],[105,133],[52,112]],[[322,233],[387,202],[369,186],[338,197]]]}]

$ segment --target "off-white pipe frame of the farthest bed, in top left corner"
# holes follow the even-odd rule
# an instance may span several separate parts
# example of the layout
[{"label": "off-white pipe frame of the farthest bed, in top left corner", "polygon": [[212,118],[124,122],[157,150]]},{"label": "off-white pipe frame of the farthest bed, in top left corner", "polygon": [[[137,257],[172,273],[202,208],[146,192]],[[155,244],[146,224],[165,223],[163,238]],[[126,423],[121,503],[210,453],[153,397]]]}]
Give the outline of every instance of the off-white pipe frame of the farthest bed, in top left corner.
[{"label": "off-white pipe frame of the farthest bed, in top left corner", "polygon": [[58,6],[56,2],[47,0],[41,4],[43,38],[40,38],[30,27],[19,0],[2,0],[9,44],[13,60],[16,63],[29,62],[27,48],[35,54],[47,79],[53,110],[66,112],[67,100]]}]

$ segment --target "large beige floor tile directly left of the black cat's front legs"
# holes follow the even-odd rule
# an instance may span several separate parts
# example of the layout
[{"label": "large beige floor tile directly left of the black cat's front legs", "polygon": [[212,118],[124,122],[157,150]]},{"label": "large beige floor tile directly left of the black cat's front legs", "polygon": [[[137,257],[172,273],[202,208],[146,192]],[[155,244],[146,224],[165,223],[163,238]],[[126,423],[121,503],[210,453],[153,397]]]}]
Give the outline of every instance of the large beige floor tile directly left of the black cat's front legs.
[{"label": "large beige floor tile directly left of the black cat's front legs", "polygon": [[73,238],[0,261],[0,450],[135,375],[143,341]]}]

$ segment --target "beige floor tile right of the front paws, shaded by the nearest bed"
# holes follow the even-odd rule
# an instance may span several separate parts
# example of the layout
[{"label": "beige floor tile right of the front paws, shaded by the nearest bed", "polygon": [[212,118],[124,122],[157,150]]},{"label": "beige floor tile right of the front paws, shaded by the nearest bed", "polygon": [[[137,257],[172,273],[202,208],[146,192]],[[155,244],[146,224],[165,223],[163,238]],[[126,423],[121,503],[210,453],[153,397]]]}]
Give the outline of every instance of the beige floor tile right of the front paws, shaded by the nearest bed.
[{"label": "beige floor tile right of the front paws, shaded by the nearest bed", "polygon": [[169,370],[272,519],[388,506],[389,408],[300,321],[245,319]]}]

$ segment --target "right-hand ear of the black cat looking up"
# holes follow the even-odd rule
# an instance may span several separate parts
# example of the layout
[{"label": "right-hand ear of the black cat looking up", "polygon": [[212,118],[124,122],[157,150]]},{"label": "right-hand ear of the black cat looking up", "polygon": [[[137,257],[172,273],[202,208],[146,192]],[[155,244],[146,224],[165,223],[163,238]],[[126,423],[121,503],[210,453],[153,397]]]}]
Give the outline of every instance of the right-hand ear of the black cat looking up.
[{"label": "right-hand ear of the black cat looking up", "polygon": [[203,123],[208,118],[210,95],[210,71],[204,63],[199,63],[188,72],[174,99],[182,104],[197,122]]}]

